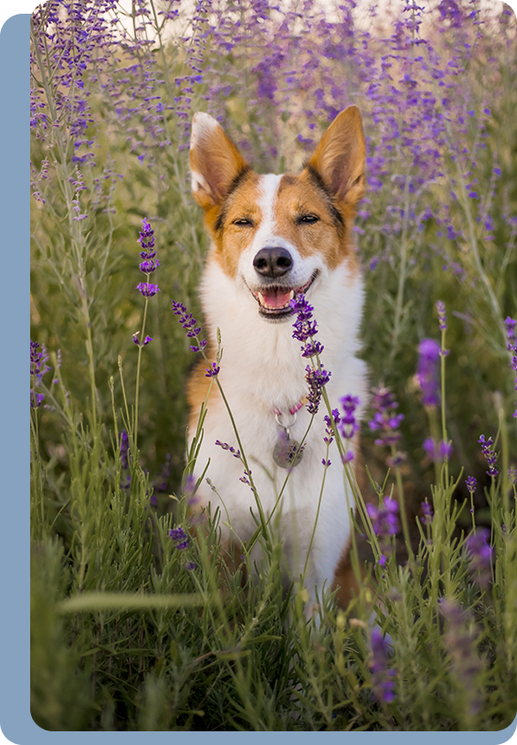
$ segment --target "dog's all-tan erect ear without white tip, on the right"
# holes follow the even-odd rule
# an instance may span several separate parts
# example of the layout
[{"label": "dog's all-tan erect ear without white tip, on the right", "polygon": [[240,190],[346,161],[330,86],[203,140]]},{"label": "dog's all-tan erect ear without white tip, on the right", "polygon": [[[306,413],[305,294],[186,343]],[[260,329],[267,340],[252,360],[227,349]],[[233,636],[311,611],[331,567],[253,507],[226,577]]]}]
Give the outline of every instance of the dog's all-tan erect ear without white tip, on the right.
[{"label": "dog's all-tan erect ear without white tip, on the right", "polygon": [[323,134],[307,165],[318,172],[338,201],[355,205],[364,197],[365,162],[361,112],[357,106],[348,106]]}]

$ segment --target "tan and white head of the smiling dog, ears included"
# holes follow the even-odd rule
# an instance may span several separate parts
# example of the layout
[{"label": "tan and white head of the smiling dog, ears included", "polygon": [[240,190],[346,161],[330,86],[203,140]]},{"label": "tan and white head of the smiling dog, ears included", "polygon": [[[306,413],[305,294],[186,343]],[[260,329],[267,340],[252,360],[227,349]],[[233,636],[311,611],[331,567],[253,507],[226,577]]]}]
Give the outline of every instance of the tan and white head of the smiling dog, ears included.
[{"label": "tan and white head of the smiling dog, ears included", "polygon": [[221,126],[195,114],[192,192],[205,210],[216,260],[242,282],[269,321],[291,315],[290,299],[345,260],[355,206],[364,196],[361,114],[338,114],[299,176],[258,176]]}]

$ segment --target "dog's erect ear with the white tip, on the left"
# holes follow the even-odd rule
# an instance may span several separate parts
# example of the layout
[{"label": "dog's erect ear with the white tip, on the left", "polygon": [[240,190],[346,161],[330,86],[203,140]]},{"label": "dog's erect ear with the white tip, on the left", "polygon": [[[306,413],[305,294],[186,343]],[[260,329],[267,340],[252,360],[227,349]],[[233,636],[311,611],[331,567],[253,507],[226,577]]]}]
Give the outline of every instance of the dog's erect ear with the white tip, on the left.
[{"label": "dog's erect ear with the white tip, on the left", "polygon": [[195,113],[190,137],[190,167],[192,194],[197,204],[204,209],[219,204],[247,165],[220,124],[209,114]]}]

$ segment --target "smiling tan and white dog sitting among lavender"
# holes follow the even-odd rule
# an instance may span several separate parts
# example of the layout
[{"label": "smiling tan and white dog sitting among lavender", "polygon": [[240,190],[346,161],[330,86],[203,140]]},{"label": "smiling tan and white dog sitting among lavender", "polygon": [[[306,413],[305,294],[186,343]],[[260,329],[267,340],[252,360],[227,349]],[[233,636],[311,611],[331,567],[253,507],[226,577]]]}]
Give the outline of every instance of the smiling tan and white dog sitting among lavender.
[{"label": "smiling tan and white dog sitting among lavender", "polygon": [[[323,403],[301,459],[298,453],[295,464],[286,463],[285,451],[282,455],[282,442],[301,443],[311,420],[304,405],[308,359],[301,357],[300,341],[292,336],[296,315],[290,300],[302,293],[313,306],[317,338],[324,346],[322,365],[332,372],[326,387],[332,408],[344,395],[357,396],[355,418],[361,420],[367,374],[356,354],[364,287],[352,244],[355,208],[366,187],[361,113],[352,105],[338,114],[298,176],[260,176],[218,122],[197,112],[190,164],[192,194],[204,210],[211,239],[200,287],[206,355],[213,369],[220,329],[218,378],[252,466],[263,514],[268,518],[274,511],[278,518],[269,526],[279,531],[286,585],[306,569],[305,612],[311,617],[324,587],[338,583],[346,598],[353,584],[347,555],[354,497],[332,442],[320,500],[322,461],[327,459]],[[208,368],[200,359],[187,384],[191,442],[210,384]],[[357,469],[357,436],[353,440]],[[221,443],[235,452],[224,452]],[[197,459],[198,468],[209,462],[206,476],[212,488],[201,484],[198,496],[200,506],[211,503],[212,512],[221,508],[222,538],[238,545],[256,531],[250,509],[258,515],[258,507],[242,460],[232,455],[238,456],[234,425],[213,384]],[[258,559],[258,551],[257,545],[252,559]]]}]

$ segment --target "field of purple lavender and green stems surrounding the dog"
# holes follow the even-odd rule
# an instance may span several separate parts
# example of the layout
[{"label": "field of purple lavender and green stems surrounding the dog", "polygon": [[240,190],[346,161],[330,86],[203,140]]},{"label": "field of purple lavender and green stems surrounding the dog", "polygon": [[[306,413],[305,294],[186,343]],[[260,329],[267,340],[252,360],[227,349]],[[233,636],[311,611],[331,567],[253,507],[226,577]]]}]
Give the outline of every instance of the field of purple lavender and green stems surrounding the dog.
[{"label": "field of purple lavender and green stems surrounding the dog", "polygon": [[[498,0],[37,5],[31,712],[41,728],[512,723],[516,31]],[[350,103],[363,115],[368,181],[354,228],[372,387],[360,589],[347,610],[327,592],[317,626],[305,622],[303,578],[282,594],[281,546],[266,528],[246,587],[249,547],[230,570],[220,515],[191,534],[206,464],[195,443],[185,457],[185,379],[203,354],[207,238],[188,139],[194,112],[209,112],[259,173],[297,172]]]}]

